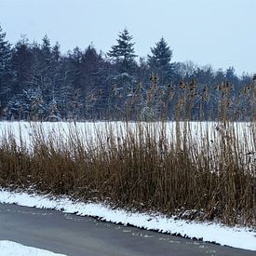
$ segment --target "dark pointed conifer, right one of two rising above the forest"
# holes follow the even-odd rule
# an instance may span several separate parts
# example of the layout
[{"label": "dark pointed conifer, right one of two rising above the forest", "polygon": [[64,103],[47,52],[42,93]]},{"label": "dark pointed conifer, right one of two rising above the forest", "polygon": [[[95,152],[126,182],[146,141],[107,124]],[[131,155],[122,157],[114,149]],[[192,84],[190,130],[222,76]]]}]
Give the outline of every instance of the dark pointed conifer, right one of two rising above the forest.
[{"label": "dark pointed conifer, right one of two rising above the forest", "polygon": [[151,47],[152,55],[148,55],[148,64],[151,71],[157,75],[160,85],[167,84],[172,75],[172,50],[168,47],[168,43],[164,37],[161,37],[155,47]]}]

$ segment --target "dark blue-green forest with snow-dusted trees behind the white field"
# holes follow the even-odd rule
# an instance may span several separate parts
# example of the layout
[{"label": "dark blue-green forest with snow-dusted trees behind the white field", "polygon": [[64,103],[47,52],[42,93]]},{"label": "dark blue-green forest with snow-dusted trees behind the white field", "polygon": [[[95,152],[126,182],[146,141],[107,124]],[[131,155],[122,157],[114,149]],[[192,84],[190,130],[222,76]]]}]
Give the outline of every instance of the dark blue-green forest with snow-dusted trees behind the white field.
[{"label": "dark blue-green forest with snow-dusted trees behind the white field", "polygon": [[159,116],[164,106],[166,117],[173,119],[169,113],[182,87],[191,89],[196,84],[198,102],[196,95],[207,90],[208,103],[203,105],[207,112],[209,105],[218,104],[221,95],[216,88],[222,83],[234,95],[251,84],[251,75],[238,76],[234,67],[214,70],[193,61],[172,61],[173,50],[164,37],[146,58],[139,57],[134,46],[132,35],[124,29],[107,53],[90,44],[85,50],[74,47],[62,54],[61,45],[52,45],[47,35],[40,43],[21,36],[12,46],[0,27],[1,118],[88,120],[120,118],[129,110],[132,119]]}]

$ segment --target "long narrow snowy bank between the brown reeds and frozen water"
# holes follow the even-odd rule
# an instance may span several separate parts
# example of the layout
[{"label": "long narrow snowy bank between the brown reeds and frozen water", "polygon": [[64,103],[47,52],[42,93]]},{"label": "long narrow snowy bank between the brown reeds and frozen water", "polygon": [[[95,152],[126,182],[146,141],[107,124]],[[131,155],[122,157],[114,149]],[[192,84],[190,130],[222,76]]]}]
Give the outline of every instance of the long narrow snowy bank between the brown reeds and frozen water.
[{"label": "long narrow snowy bank between the brown reeds and frozen water", "polygon": [[188,222],[156,213],[135,213],[124,209],[111,209],[107,205],[97,203],[73,202],[67,197],[52,198],[46,195],[31,195],[7,190],[0,190],[0,203],[57,209],[80,216],[97,217],[106,222],[130,224],[147,230],[202,239],[224,246],[256,250],[256,232],[248,228],[228,227],[213,222]]}]

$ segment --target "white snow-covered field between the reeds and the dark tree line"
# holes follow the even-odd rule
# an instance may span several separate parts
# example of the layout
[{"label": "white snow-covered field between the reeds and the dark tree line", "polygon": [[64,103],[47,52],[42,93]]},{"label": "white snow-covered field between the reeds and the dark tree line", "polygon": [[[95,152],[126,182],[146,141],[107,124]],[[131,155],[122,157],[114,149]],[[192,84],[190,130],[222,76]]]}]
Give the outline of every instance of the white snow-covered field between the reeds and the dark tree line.
[{"label": "white snow-covered field between the reeds and the dark tree line", "polygon": [[[249,152],[254,152],[255,145],[253,136],[255,135],[255,124],[248,122],[230,123],[224,127],[218,122],[141,122],[144,134],[150,130],[152,137],[162,136],[162,129],[165,128],[165,136],[168,141],[175,143],[177,140],[177,128],[179,128],[179,137],[182,138],[186,134],[185,141],[196,144],[196,147],[203,147],[209,141],[209,146],[214,147],[218,143],[226,140],[229,137],[228,132],[233,136],[236,135],[236,140],[240,145],[240,153],[247,155]],[[112,133],[115,138],[126,137],[128,132],[139,134],[138,125],[134,122],[26,122],[26,121],[1,121],[0,122],[0,142],[2,138],[12,134],[18,145],[20,142],[26,144],[28,148],[33,144],[35,135],[39,135],[44,141],[62,141],[68,142],[71,140],[79,140],[84,144],[97,144],[99,141],[106,141]],[[185,129],[184,129],[185,128]],[[184,130],[186,130],[184,132]],[[20,140],[22,139],[22,140]],[[60,139],[60,140],[59,140]]]}]

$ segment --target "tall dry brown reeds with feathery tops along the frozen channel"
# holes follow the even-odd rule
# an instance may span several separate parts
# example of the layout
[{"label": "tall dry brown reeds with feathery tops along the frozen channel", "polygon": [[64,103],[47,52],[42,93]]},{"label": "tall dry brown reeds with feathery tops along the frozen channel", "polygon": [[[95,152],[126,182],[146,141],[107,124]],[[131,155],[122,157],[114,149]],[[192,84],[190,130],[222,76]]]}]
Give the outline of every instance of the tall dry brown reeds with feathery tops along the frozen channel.
[{"label": "tall dry brown reeds with feathery tops along the frozen channel", "polygon": [[[84,131],[74,124],[67,136],[38,125],[30,143],[21,134],[17,141],[6,133],[0,144],[0,185],[255,227],[254,100],[249,101],[249,122],[236,122],[229,113],[229,87],[221,85],[216,122],[202,122],[207,88],[197,101],[197,122],[190,121],[196,89],[192,81],[180,84],[174,122],[165,121],[165,103],[158,122],[109,121],[103,128],[95,125]],[[155,88],[149,90],[148,97],[155,101]],[[134,114],[134,105],[132,109],[127,115]]]}]

